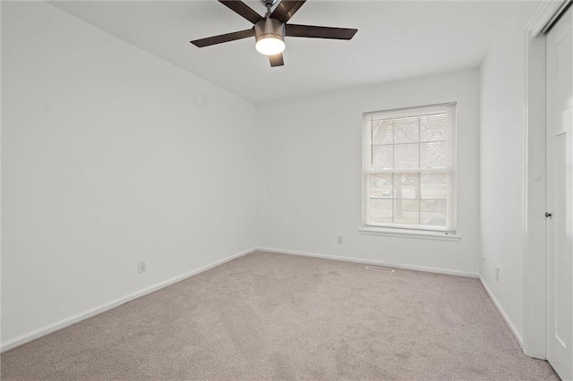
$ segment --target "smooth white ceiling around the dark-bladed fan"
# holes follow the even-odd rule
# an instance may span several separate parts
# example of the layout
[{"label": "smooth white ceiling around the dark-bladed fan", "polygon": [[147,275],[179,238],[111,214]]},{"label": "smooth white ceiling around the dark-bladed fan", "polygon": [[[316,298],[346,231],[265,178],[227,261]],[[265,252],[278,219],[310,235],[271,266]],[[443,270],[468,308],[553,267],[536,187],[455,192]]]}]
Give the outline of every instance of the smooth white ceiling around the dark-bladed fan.
[{"label": "smooth white ceiling around the dark-bladed fan", "polygon": [[[246,1],[263,14],[258,0]],[[292,23],[356,28],[350,41],[286,38],[271,68],[254,38],[198,48],[189,41],[252,27],[210,1],[51,2],[253,103],[476,68],[515,2],[309,0]]]}]

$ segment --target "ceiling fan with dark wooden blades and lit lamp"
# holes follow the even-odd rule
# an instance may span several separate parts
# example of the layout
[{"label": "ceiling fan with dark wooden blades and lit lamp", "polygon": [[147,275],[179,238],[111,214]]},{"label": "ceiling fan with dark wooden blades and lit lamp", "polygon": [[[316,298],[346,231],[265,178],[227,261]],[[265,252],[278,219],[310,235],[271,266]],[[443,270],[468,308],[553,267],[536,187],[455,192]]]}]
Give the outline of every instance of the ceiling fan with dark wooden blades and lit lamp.
[{"label": "ceiling fan with dark wooden blades and lit lamp", "polygon": [[275,67],[285,64],[283,59],[285,37],[351,39],[358,31],[348,28],[287,24],[286,21],[293,17],[306,0],[282,0],[272,12],[271,9],[278,0],[260,1],[267,8],[267,13],[264,17],[240,0],[218,0],[219,3],[226,5],[235,13],[251,21],[254,24],[253,27],[250,30],[239,30],[218,36],[195,39],[191,43],[195,47],[210,47],[211,45],[254,36],[257,51],[263,55],[269,55],[270,66]]}]

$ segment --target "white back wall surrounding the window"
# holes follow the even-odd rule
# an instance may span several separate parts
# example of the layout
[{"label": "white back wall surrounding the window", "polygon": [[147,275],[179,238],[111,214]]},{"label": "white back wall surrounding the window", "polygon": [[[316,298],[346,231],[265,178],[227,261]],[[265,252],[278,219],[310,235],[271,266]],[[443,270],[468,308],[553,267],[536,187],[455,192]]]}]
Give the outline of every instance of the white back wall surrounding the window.
[{"label": "white back wall surrounding the window", "polygon": [[[478,72],[468,71],[258,106],[260,246],[476,274],[479,93]],[[363,112],[451,101],[458,102],[462,239],[359,233]]]}]

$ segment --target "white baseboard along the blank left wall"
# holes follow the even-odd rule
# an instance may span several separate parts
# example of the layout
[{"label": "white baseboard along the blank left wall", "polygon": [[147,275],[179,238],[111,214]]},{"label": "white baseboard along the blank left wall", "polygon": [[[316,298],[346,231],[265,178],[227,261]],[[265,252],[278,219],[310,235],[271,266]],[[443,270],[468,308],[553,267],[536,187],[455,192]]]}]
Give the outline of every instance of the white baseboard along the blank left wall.
[{"label": "white baseboard along the blank left wall", "polygon": [[77,315],[73,315],[70,318],[64,318],[63,320],[60,320],[54,324],[51,324],[49,326],[44,326],[42,328],[36,329],[28,334],[22,334],[21,336],[15,337],[11,340],[6,341],[5,343],[0,344],[0,351],[4,352],[4,351],[9,351],[23,343],[28,343],[31,342],[32,340],[36,340],[41,336],[44,336],[46,334],[51,334],[52,332],[55,332],[59,329],[62,329],[66,326],[72,326],[75,323],[80,322],[81,320],[85,320],[87,318],[91,318],[95,315],[98,315],[102,312],[105,312],[109,309],[114,309],[115,307],[124,304],[128,301],[133,301],[134,299],[137,298],[141,298],[141,296],[147,295],[148,293],[151,292],[156,292],[164,287],[167,287],[168,285],[171,284],[176,284],[177,282],[181,282],[184,279],[187,279],[193,275],[197,275],[197,274],[201,274],[204,271],[210,270],[213,267],[218,267],[226,262],[229,262],[235,258],[239,258],[239,257],[243,257],[247,254],[251,254],[253,251],[256,251],[256,249],[250,249],[250,250],[244,250],[240,253],[234,254],[230,257],[218,260],[217,262],[213,262],[210,265],[204,266],[204,267],[200,267],[197,268],[195,270],[192,270],[190,272],[187,272],[185,274],[182,275],[177,275],[173,278],[167,279],[167,281],[164,282],[160,282],[158,284],[154,284],[151,285],[150,287],[144,288],[138,292],[133,292],[130,293],[128,295],[125,295],[122,298],[116,299],[115,301],[110,301],[106,304],[100,305],[94,309],[89,309],[85,312],[81,312]]}]

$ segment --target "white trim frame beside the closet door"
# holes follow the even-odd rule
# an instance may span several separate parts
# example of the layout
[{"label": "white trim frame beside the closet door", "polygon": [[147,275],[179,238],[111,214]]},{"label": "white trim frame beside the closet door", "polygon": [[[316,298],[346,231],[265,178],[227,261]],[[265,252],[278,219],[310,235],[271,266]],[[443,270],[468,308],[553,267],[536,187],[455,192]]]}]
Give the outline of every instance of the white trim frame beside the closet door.
[{"label": "white trim frame beside the closet door", "polygon": [[[572,0],[545,1],[525,36],[523,332],[526,355],[547,360],[546,41],[545,32]],[[543,306],[543,309],[540,308]]]}]

